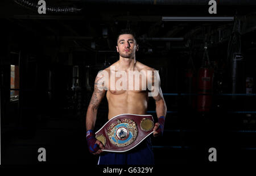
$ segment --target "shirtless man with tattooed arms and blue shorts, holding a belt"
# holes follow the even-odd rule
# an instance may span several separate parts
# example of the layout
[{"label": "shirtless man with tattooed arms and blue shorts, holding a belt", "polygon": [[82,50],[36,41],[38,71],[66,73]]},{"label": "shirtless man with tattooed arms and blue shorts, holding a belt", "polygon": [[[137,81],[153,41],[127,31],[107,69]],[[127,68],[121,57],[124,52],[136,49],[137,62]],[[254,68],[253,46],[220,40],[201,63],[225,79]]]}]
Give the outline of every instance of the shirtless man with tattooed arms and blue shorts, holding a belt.
[{"label": "shirtless man with tattooed arms and blue shorts, holding a belt", "polygon": [[[118,72],[129,72],[135,71],[138,72],[144,71],[155,71],[141,62],[136,61],[135,52],[138,51],[138,44],[135,40],[134,34],[131,31],[124,30],[118,36],[117,39],[117,52],[119,53],[119,60],[112,65],[115,70],[106,68],[105,72],[110,73]],[[158,74],[158,72],[156,72]],[[99,89],[98,84],[102,84],[102,79],[104,79],[104,74],[99,72],[94,82],[94,92],[92,99],[86,114],[86,139],[88,142],[89,151],[93,154],[100,154],[100,159],[98,164],[154,164],[154,155],[151,149],[150,137],[147,137],[146,140],[142,141],[141,144],[135,147],[128,152],[123,153],[111,153],[103,152],[101,149],[104,149],[104,145],[95,138],[93,132],[94,125],[96,123],[97,108],[100,105],[101,100],[104,98],[106,93],[106,98],[108,99],[109,114],[108,119],[112,119],[114,116],[119,114],[138,114],[145,115],[147,111],[148,104],[148,89],[143,89],[142,83],[139,85],[139,90],[111,90],[110,81],[104,82],[104,87],[106,89]],[[115,83],[120,79],[120,77],[115,77]],[[110,80],[110,79],[108,79]],[[141,79],[140,79],[141,81]],[[155,123],[153,128],[153,136],[160,136],[163,133],[164,120],[166,117],[166,103],[164,102],[163,94],[160,89],[160,79],[159,76],[156,78],[152,74],[151,78],[148,78],[147,81],[158,81],[159,91],[153,97],[156,104],[156,114],[158,116],[158,123]],[[127,80],[129,82],[129,80]],[[134,82],[136,84],[138,82]],[[128,85],[128,83],[127,83]],[[152,89],[151,89],[152,90]],[[103,152],[103,153],[102,153]]]}]

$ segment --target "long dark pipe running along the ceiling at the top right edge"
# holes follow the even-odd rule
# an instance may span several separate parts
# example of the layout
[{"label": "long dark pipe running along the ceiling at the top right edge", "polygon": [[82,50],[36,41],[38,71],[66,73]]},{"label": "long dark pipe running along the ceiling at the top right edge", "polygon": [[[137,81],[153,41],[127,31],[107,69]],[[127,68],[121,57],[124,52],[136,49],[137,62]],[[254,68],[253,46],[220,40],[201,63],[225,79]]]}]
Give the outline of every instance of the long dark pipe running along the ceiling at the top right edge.
[{"label": "long dark pipe running along the ceiling at the top right edge", "polygon": [[[92,4],[118,4],[118,5],[208,5],[208,0],[81,0]],[[255,0],[221,0],[218,5],[256,5]]]}]

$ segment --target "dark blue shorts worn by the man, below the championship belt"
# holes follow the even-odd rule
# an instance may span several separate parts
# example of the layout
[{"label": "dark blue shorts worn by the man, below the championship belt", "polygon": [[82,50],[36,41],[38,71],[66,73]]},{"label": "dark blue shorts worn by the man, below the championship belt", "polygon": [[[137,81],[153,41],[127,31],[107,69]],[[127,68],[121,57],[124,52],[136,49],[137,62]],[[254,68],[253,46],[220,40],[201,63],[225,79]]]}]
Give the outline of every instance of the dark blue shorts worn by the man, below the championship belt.
[{"label": "dark blue shorts worn by the man, below the championship belt", "polygon": [[154,153],[150,137],[127,152],[103,152],[98,165],[154,165]]}]

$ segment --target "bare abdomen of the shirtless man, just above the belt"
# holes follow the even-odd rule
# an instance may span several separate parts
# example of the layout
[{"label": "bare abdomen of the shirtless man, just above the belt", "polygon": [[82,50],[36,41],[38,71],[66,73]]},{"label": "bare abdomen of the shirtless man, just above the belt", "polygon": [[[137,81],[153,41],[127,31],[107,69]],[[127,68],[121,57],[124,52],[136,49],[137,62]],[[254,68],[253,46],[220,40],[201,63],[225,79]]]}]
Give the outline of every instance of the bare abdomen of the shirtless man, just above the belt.
[{"label": "bare abdomen of the shirtless man, just above the belt", "polygon": [[107,91],[108,119],[110,120],[120,114],[146,114],[147,94],[147,91]]}]

